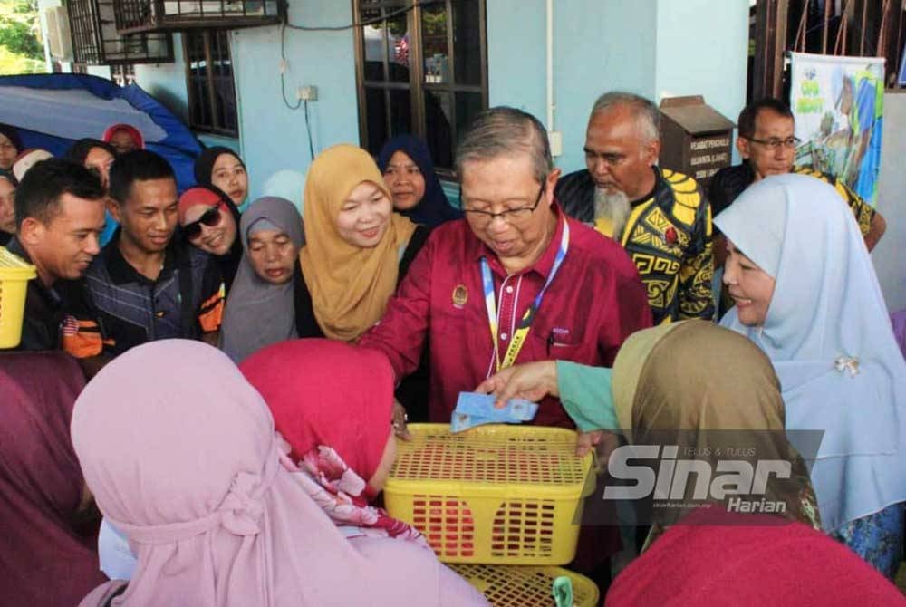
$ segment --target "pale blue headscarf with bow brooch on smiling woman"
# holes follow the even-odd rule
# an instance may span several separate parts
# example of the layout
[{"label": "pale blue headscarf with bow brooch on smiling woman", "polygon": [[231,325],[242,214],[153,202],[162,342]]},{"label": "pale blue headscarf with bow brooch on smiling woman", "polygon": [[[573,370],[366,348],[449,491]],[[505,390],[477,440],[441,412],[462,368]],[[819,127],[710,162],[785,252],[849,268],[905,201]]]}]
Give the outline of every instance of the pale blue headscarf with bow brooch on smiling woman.
[{"label": "pale blue headscarf with bow brooch on smiling woman", "polygon": [[720,324],[771,359],[786,429],[824,430],[812,470],[824,530],[906,501],[906,362],[850,209],[818,179],[781,175],[714,224],[776,280],[762,326],[735,309]]}]

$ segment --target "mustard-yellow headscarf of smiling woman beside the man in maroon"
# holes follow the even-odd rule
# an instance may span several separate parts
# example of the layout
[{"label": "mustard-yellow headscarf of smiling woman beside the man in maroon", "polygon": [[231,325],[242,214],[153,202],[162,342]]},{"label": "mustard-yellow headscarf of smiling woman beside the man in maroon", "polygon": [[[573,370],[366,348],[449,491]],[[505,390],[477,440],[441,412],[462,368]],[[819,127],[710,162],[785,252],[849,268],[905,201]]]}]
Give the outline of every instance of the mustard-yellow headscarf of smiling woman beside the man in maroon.
[{"label": "mustard-yellow headscarf of smiling woman beside the man in maroon", "polygon": [[357,340],[381,320],[396,290],[400,247],[409,243],[416,227],[393,213],[377,246],[360,248],[343,240],[337,217],[343,201],[363,181],[374,183],[390,198],[368,152],[340,144],[314,159],[305,182],[305,246],[299,263],[321,330],[343,342]]}]

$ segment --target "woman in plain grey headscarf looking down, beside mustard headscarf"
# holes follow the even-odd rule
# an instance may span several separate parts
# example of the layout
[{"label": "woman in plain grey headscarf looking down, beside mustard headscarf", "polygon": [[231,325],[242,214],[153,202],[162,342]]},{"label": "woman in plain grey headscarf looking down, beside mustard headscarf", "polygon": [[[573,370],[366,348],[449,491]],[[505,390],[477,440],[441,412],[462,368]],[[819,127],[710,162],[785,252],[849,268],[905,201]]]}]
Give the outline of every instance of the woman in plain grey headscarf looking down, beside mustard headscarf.
[{"label": "woman in plain grey headscarf looking down, beside mustard headscarf", "polygon": [[220,348],[236,361],[297,337],[294,281],[304,245],[302,217],[285,198],[258,198],[239,224],[244,253],[226,300]]}]

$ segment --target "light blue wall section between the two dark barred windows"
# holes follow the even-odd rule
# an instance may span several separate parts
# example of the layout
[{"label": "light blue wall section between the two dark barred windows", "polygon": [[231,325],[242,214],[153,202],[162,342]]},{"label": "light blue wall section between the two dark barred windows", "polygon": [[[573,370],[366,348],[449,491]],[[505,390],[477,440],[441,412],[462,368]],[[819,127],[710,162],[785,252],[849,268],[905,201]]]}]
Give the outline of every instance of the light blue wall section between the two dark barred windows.
[{"label": "light blue wall section between the two dark barred windows", "polygon": [[[290,23],[305,26],[352,23],[352,3],[305,0],[290,3]],[[286,96],[295,103],[301,85],[318,87],[309,104],[314,153],[344,141],[358,143],[355,89],[355,43],[352,30],[302,32],[287,30]],[[251,195],[279,169],[305,173],[311,163],[304,111],[289,110],[280,94],[280,28],[263,27],[233,33],[233,62],[240,104],[243,159]]]}]

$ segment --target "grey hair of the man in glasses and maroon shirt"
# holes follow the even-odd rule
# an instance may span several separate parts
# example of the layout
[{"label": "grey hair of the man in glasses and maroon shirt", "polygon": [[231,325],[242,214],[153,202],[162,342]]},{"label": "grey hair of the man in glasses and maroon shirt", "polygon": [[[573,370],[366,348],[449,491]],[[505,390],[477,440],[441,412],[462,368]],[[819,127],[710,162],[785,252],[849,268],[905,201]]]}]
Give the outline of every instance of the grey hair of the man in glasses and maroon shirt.
[{"label": "grey hair of the man in glasses and maroon shirt", "polygon": [[467,162],[485,161],[524,152],[532,161],[538,183],[554,170],[545,126],[532,114],[500,106],[479,113],[456,150],[456,171],[462,178]]}]

